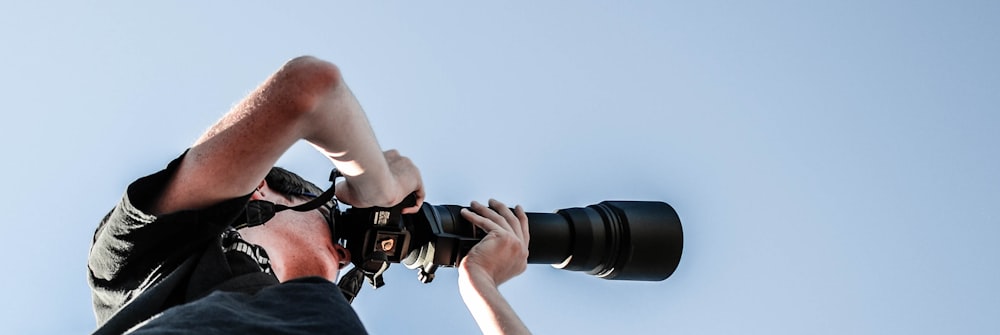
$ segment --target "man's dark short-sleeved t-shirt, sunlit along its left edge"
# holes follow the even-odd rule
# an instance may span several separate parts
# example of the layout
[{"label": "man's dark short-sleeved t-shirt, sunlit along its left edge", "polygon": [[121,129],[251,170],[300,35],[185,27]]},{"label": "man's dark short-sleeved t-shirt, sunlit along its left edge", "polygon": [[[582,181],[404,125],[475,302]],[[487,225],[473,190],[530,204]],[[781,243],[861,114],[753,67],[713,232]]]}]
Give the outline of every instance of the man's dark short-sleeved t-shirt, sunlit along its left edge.
[{"label": "man's dark short-sleeved t-shirt, sunlit along its left edge", "polygon": [[337,285],[320,277],[279,284],[263,249],[229,228],[249,195],[148,214],[182,158],[129,185],[94,233],[88,270],[96,333],[365,332]]}]

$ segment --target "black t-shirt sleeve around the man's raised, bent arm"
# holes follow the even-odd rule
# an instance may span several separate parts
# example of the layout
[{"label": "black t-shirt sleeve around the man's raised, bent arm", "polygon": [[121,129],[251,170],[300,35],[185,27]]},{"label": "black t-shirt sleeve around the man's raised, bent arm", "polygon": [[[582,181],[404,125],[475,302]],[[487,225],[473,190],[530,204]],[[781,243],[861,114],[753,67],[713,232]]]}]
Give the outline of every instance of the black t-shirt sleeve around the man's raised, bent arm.
[{"label": "black t-shirt sleeve around the man's raised, bent arm", "polygon": [[149,214],[183,158],[184,154],[165,169],[129,185],[97,227],[87,267],[99,322],[185,259],[200,254],[249,201],[248,194],[204,209]]}]

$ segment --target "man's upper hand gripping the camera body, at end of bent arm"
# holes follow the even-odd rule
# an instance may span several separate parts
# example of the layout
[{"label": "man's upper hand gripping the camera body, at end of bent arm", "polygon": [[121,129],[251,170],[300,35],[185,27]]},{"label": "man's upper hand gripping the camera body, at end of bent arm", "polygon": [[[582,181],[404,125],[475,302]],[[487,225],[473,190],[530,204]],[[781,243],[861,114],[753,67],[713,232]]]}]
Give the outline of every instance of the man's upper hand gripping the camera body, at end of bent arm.
[{"label": "man's upper hand gripping the camera body, at end of bent arm", "polygon": [[393,177],[393,181],[386,184],[392,186],[386,186],[382,190],[365,190],[355,187],[350,180],[341,181],[337,183],[337,199],[359,208],[391,207],[402,202],[410,193],[416,193],[416,205],[403,209],[403,214],[416,213],[424,202],[424,184],[420,178],[420,170],[413,161],[396,150],[388,150],[383,155]]}]

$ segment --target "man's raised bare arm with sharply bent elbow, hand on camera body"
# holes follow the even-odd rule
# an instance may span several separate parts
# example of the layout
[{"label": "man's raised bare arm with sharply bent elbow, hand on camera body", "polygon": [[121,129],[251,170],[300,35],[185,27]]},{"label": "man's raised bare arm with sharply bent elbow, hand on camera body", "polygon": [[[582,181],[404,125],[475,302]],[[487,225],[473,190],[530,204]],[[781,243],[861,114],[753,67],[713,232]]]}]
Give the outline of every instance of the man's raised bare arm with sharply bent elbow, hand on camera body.
[{"label": "man's raised bare arm with sharply bent elbow, hand on camera body", "polygon": [[340,70],[313,57],[299,57],[195,142],[154,212],[203,208],[246,195],[300,139],[347,176],[338,196],[348,203],[390,207],[413,191],[422,201],[419,171],[405,157],[381,151]]}]

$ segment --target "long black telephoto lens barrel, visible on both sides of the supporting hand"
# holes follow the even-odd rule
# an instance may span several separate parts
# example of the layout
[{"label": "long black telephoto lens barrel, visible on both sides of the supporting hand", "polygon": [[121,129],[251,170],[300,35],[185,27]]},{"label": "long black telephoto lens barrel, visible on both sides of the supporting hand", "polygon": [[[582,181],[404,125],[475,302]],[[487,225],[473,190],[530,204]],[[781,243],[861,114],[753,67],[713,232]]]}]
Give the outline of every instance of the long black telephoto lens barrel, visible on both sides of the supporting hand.
[{"label": "long black telephoto lens barrel, visible on both sides of the supporting hand", "polygon": [[[483,237],[462,218],[461,208],[424,205],[422,214],[414,216],[420,218],[413,220],[419,224],[409,225],[417,249],[404,260],[407,266],[457,265]],[[604,201],[527,216],[528,263],[552,264],[604,279],[664,280],[677,268],[684,248],[680,218],[664,202]]]}]

